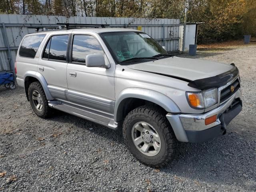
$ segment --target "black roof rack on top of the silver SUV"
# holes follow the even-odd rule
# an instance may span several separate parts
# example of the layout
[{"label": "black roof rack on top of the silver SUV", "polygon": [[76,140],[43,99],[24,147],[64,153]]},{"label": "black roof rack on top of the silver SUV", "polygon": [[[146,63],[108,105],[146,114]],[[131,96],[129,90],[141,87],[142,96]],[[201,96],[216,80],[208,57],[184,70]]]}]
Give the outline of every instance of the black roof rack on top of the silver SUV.
[{"label": "black roof rack on top of the silver SUV", "polygon": [[36,32],[41,31],[48,31],[48,30],[69,30],[69,29],[80,29],[81,27],[94,27],[94,28],[106,28],[109,26],[108,24],[78,24],[78,23],[56,23],[58,26],[52,27],[44,27],[44,26],[35,26],[35,27],[28,27],[30,29],[36,29]]}]

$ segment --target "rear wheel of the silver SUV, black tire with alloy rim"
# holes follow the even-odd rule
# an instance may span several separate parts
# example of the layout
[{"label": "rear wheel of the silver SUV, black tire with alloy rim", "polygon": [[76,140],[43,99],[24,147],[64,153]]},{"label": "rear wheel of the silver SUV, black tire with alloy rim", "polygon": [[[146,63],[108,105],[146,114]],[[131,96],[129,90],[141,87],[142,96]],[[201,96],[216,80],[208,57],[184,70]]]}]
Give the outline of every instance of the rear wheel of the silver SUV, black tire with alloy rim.
[{"label": "rear wheel of the silver SUV, black tire with alloy rim", "polygon": [[[48,118],[52,116],[53,109],[48,106],[48,100],[40,82],[32,82],[29,85],[28,98],[33,111],[38,117]],[[40,106],[38,106],[38,104],[40,104]]]}]

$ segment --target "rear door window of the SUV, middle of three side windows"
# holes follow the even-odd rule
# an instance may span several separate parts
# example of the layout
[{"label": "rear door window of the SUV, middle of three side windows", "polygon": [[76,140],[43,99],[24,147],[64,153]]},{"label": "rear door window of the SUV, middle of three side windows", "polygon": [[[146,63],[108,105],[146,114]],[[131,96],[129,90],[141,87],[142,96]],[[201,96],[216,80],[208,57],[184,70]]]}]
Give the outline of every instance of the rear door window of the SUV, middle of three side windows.
[{"label": "rear door window of the SUV, middle of three side windows", "polygon": [[43,58],[66,61],[69,35],[52,36],[44,49]]}]

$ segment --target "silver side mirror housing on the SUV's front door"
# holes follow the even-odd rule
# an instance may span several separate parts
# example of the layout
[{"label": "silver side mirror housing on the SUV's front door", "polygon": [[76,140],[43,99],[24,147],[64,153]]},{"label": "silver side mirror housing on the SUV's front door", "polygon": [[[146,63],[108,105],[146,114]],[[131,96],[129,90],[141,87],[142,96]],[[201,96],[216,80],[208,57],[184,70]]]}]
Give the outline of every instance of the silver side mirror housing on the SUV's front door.
[{"label": "silver side mirror housing on the SUV's front door", "polygon": [[94,53],[89,54],[85,58],[87,67],[105,67],[105,58],[102,54]]}]

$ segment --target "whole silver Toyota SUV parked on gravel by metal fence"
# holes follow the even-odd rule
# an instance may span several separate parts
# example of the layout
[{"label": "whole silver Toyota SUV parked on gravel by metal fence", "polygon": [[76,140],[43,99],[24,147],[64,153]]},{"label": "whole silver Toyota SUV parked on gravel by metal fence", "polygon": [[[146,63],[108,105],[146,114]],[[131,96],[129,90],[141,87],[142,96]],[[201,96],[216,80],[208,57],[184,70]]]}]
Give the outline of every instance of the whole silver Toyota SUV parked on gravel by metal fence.
[{"label": "whole silver Toyota SUV parked on gravel by metal fence", "polygon": [[28,34],[15,70],[36,115],[56,109],[122,128],[131,153],[156,168],[174,158],[177,141],[223,135],[242,110],[234,64],[171,56],[137,30]]}]

